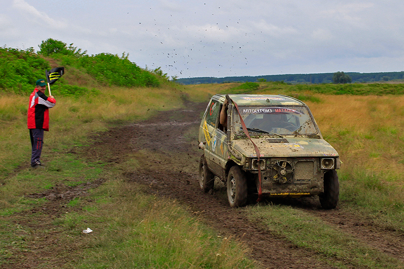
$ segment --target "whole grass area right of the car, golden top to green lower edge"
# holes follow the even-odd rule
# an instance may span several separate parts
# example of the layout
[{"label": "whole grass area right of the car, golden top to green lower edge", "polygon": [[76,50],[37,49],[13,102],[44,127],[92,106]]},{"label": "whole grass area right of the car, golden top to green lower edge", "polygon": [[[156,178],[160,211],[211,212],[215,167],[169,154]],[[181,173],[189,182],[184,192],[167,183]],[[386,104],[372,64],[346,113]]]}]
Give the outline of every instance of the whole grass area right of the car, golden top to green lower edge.
[{"label": "whole grass area right of the car, golden top to green lower edge", "polygon": [[404,232],[404,96],[318,97],[309,105],[343,162],[342,205]]}]

